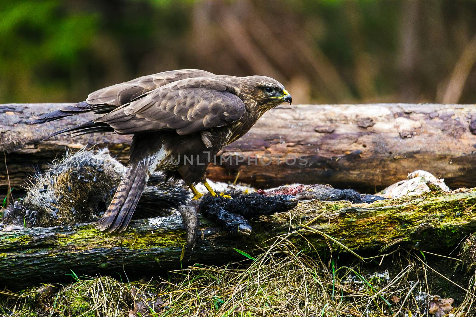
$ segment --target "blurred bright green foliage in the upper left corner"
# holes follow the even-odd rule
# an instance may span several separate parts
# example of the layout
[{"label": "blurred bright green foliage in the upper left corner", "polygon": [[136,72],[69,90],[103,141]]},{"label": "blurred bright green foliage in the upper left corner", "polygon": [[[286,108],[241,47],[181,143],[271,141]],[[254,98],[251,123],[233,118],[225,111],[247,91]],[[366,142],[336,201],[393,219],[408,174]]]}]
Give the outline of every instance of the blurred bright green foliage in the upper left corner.
[{"label": "blurred bright green foliage in the upper left corner", "polygon": [[0,99],[64,98],[71,71],[97,32],[97,14],[73,12],[60,1],[0,4]]}]

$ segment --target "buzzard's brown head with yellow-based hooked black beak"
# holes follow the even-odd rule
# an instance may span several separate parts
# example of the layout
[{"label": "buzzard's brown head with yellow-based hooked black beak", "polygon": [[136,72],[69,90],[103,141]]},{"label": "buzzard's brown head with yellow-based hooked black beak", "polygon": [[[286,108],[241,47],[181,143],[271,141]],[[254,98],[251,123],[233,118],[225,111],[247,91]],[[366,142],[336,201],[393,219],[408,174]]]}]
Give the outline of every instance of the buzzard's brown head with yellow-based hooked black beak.
[{"label": "buzzard's brown head with yellow-based hooked black beak", "polygon": [[264,112],[278,106],[283,102],[291,104],[292,98],[284,86],[277,80],[265,76],[243,77],[243,85],[240,86],[242,97],[251,101],[245,105],[252,105],[248,111]]}]

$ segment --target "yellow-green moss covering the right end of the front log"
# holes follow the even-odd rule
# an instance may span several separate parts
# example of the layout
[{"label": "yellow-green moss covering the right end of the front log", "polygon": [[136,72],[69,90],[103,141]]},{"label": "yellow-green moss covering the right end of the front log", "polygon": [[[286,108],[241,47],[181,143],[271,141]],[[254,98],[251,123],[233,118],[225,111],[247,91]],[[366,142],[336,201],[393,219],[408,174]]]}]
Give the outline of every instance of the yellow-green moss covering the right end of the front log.
[{"label": "yellow-green moss covering the right end of the front log", "polygon": [[[426,247],[432,247],[436,240],[441,240],[445,246],[457,243],[456,236],[465,234],[461,232],[461,224],[473,220],[471,212],[475,209],[475,203],[476,191],[466,191],[453,194],[429,193],[372,204],[302,202],[297,209],[298,212],[316,210],[325,214],[326,211],[351,207],[345,214],[328,214],[324,219],[319,217],[311,224],[317,230],[323,228],[327,235],[335,239],[328,240],[332,248],[339,248],[339,242],[350,249],[363,246],[372,249],[385,247],[392,242],[416,245],[421,240],[425,241]],[[463,228],[468,230],[468,227]],[[374,234],[369,235],[369,232]],[[306,235],[318,249],[325,237],[318,231],[315,233],[314,236]]]}]

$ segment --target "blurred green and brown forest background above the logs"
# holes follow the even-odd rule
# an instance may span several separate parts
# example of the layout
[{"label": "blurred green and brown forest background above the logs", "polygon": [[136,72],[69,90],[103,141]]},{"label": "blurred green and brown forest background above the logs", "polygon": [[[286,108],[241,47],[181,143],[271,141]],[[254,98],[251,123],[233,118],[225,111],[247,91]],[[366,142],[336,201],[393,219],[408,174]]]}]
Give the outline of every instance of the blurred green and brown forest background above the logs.
[{"label": "blurred green and brown forest background above the logs", "polygon": [[475,62],[475,0],[0,1],[0,103],[178,68],[275,77],[295,103],[475,103]]}]

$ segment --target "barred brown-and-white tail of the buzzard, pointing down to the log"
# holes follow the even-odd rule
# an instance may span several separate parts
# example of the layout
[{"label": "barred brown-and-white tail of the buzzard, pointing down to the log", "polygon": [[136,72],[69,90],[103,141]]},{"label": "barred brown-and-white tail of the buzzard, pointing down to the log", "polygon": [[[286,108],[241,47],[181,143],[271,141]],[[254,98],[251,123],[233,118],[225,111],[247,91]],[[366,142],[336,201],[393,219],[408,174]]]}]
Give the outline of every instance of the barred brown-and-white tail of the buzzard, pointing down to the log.
[{"label": "barred brown-and-white tail of the buzzard, pointing down to the log", "polygon": [[129,225],[146,183],[145,164],[142,162],[129,164],[108,210],[98,221],[97,228],[108,232],[124,231]]}]

